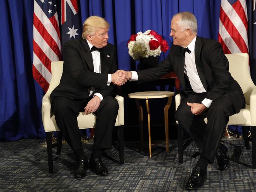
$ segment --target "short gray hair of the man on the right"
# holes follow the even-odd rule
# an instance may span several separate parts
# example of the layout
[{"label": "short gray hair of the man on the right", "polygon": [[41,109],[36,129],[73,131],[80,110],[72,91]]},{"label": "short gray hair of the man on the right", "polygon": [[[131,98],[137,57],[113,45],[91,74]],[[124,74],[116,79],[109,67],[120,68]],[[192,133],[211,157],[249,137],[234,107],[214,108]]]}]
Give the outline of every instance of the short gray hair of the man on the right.
[{"label": "short gray hair of the man on the right", "polygon": [[192,33],[197,33],[197,19],[195,15],[192,13],[185,11],[175,14],[175,16],[180,16],[180,20],[178,21],[178,25],[182,28],[182,30],[186,30],[189,28]]}]

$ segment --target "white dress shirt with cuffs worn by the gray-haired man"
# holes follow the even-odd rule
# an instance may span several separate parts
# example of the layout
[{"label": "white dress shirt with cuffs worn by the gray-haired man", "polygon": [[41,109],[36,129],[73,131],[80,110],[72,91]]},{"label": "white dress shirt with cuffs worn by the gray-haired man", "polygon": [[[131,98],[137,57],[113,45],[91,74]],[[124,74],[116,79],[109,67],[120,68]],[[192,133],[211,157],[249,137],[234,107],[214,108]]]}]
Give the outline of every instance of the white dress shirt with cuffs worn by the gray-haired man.
[{"label": "white dress shirt with cuffs worn by the gray-haired man", "polygon": [[[189,43],[189,45],[185,48],[189,48],[191,53],[188,52],[185,53],[185,65],[184,65],[184,73],[187,75],[189,83],[196,93],[202,93],[206,92],[204,89],[204,86],[199,78],[198,72],[197,72],[197,66],[195,64],[195,42],[196,42],[197,36]],[[137,81],[138,80],[138,74],[135,71],[132,71],[132,79],[131,81]],[[210,107],[211,103],[213,101],[210,99],[205,98],[202,100],[202,104],[206,107]]]}]

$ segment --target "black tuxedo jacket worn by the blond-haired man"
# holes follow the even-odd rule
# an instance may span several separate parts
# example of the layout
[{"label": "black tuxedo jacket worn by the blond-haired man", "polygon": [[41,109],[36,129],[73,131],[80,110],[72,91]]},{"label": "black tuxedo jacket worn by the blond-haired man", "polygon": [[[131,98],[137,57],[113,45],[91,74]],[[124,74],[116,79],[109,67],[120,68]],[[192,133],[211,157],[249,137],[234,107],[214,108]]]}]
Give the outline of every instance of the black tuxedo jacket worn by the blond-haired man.
[{"label": "black tuxedo jacket worn by the blond-haired man", "polygon": [[100,52],[101,74],[93,72],[93,57],[85,39],[68,41],[63,46],[63,74],[59,85],[52,91],[51,97],[85,99],[89,97],[91,87],[103,98],[116,96],[115,85],[107,86],[108,74],[115,73],[117,64],[115,46],[108,43]]}]

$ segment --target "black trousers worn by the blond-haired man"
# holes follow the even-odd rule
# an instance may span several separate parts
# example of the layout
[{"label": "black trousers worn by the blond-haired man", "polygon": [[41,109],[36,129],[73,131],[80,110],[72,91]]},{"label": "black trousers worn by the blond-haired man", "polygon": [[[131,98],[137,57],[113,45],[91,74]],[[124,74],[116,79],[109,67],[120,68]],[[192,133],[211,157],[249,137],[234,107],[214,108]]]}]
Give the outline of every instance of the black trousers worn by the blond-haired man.
[{"label": "black trousers worn by the blond-haired man", "polygon": [[[56,123],[73,151],[83,149],[77,116],[91,98],[70,100],[65,97],[52,98]],[[96,124],[93,150],[109,149],[112,146],[112,131],[119,105],[115,98],[106,96],[95,111]]]}]

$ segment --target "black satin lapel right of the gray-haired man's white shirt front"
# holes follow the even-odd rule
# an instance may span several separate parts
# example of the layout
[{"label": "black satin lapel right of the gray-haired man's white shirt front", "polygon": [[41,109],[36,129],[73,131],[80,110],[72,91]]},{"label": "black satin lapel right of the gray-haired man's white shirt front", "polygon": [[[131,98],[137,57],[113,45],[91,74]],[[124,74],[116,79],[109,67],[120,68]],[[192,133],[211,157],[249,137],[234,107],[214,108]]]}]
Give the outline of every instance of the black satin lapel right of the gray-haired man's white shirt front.
[{"label": "black satin lapel right of the gray-haired man's white shirt front", "polygon": [[207,91],[207,83],[206,83],[206,78],[204,74],[204,67],[200,60],[202,46],[203,46],[203,43],[201,42],[200,37],[197,36],[196,43],[195,43],[195,62],[196,62],[198,76],[204,86],[204,89]]}]

